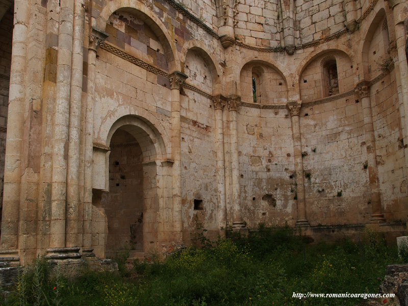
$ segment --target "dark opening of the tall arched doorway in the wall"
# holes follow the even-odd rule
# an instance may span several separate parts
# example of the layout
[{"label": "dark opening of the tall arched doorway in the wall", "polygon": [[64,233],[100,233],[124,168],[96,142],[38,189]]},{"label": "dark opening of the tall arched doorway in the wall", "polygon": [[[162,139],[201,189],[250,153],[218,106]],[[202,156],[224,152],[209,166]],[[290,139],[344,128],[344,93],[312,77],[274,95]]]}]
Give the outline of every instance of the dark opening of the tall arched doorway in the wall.
[{"label": "dark opening of the tall arched doorway in the wall", "polygon": [[120,252],[143,252],[143,214],[150,175],[143,171],[142,148],[122,127],[113,134],[109,156],[109,192],[100,205],[108,221],[106,257]]}]

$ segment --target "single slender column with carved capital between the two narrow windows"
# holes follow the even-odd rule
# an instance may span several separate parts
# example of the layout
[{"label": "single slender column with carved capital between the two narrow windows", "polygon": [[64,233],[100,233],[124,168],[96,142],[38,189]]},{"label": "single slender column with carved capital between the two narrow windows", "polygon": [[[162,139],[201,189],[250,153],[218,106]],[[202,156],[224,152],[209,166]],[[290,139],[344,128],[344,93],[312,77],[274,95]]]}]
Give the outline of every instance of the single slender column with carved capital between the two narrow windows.
[{"label": "single slender column with carved capital between the two narrow windows", "polygon": [[289,101],[287,104],[292,120],[292,137],[293,137],[293,155],[296,172],[296,195],[297,195],[297,221],[296,227],[307,227],[309,221],[306,219],[306,209],[304,200],[304,179],[303,179],[303,160],[302,160],[302,143],[300,138],[300,113],[301,101]]}]

